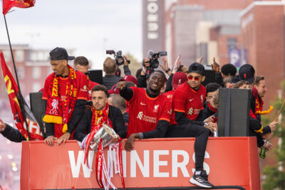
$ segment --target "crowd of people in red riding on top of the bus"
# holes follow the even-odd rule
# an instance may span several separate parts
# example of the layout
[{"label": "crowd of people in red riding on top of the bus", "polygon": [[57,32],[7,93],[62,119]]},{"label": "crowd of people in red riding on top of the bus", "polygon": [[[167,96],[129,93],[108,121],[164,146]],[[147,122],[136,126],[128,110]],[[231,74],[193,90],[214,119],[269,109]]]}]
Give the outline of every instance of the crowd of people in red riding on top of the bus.
[{"label": "crowd of people in red riding on top of the bus", "polygon": [[[53,73],[48,75],[43,87],[46,114],[44,142],[53,146],[68,139],[84,141],[86,135],[98,130],[98,124],[107,123],[118,134],[127,138],[125,150],[134,149],[135,139],[158,137],[195,137],[195,174],[192,184],[203,187],[213,185],[203,169],[204,154],[209,136],[218,130],[217,110],[219,88],[251,89],[249,135],[257,137],[257,146],[272,149],[266,139],[271,138],[276,122],[262,127],[262,97],[266,94],[263,76],[256,76],[252,65],[239,68],[228,63],[221,68],[213,59],[215,78],[205,87],[205,69],[202,63],[192,63],[189,68],[181,65],[177,57],[172,68],[167,58],[162,58],[161,70],[151,68],[150,58],[145,58],[135,77],[124,57],[125,77],[113,58],[103,63],[103,84],[88,78],[88,59],[74,59],[73,68],[68,65],[64,48],[50,52]],[[26,140],[18,130],[0,120],[0,131],[14,142]]]}]

